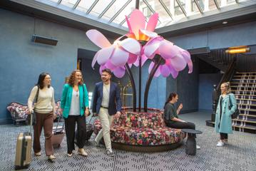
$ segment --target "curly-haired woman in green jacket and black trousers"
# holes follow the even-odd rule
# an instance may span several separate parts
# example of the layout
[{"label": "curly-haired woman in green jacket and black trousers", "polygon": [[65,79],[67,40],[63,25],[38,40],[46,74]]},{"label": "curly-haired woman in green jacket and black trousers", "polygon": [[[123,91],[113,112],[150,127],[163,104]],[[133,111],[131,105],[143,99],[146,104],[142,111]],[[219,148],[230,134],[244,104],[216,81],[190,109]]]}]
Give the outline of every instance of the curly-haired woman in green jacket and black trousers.
[{"label": "curly-haired woman in green jacket and black trousers", "polygon": [[86,142],[86,116],[89,114],[88,92],[86,85],[83,83],[83,76],[80,70],[73,71],[68,83],[63,87],[61,113],[65,119],[68,156],[71,157],[73,150],[75,150],[76,123],[78,125],[78,154],[87,156],[83,146]]}]

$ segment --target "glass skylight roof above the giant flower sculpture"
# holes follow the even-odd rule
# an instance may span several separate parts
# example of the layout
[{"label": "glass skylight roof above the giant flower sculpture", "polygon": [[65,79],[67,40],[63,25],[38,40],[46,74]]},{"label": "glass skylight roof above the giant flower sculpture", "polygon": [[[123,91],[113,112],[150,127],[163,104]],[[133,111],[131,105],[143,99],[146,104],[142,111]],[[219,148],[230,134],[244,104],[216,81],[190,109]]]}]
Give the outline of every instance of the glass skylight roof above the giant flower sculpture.
[{"label": "glass skylight roof above the giant flower sculpture", "polygon": [[[109,23],[114,23],[114,26],[121,26],[121,28],[122,26],[126,28],[128,27],[126,22],[123,21],[125,21],[125,16],[129,16],[130,13],[135,9],[135,0],[81,0],[76,9],[73,9],[73,7],[76,2],[78,2],[78,0],[62,0],[61,4],[58,4],[59,0],[35,1],[73,12],[84,17],[91,18],[94,16],[92,19],[96,16],[97,21],[105,24],[107,24],[108,21],[113,20]],[[128,1],[130,1],[130,3],[122,11],[120,11],[122,7],[128,3]],[[195,3],[195,1],[198,3]],[[215,1],[217,1],[217,5],[220,7],[220,9],[217,9]],[[149,17],[153,14],[153,11],[158,12],[159,19],[157,28],[159,28],[163,26],[169,26],[171,24],[177,24],[182,21],[188,21],[189,19],[197,19],[205,16],[205,14],[217,14],[221,12],[221,9],[225,9],[227,6],[235,5],[235,8],[236,6],[242,7],[245,1],[252,0],[238,0],[238,3],[236,0],[140,0],[139,9],[143,12],[146,21],[148,21]],[[106,10],[106,7],[111,2],[113,2],[112,6]],[[90,9],[93,3],[96,5],[92,8],[91,12],[86,15],[86,12],[88,12],[88,9]],[[199,10],[197,4],[200,6],[201,11]],[[103,11],[105,12],[104,14]],[[214,12],[208,13],[208,11]],[[119,12],[121,13],[118,14]],[[103,14],[103,16],[99,17],[101,14]],[[190,16],[193,17],[190,18]]]}]

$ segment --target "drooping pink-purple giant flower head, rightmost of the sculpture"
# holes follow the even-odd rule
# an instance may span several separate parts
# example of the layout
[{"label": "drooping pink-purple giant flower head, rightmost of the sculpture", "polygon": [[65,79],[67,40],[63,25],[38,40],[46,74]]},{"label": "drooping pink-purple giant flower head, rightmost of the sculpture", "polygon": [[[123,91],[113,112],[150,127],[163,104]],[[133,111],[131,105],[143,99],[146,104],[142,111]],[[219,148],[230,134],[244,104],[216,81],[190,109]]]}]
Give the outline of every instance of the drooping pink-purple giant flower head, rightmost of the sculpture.
[{"label": "drooping pink-purple giant flower head, rightmost of the sculpture", "polygon": [[[189,71],[193,71],[193,63],[190,59],[190,53],[183,48],[173,45],[172,42],[165,40],[161,36],[151,38],[144,46],[144,55],[152,59],[155,54],[159,54],[165,60],[165,63],[161,65],[155,72],[155,77],[160,76],[160,73],[164,77],[168,77],[172,74],[173,78],[178,76],[178,72],[182,71],[188,63]],[[154,62],[150,63],[148,71],[153,68]]]}]

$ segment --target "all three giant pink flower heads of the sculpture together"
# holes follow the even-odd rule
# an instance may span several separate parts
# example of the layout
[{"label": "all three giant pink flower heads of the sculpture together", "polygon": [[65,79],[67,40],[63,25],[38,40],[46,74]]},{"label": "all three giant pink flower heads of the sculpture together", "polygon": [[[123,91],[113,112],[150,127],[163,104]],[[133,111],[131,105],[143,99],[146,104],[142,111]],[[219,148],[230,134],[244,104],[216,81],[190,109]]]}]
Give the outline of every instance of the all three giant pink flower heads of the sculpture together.
[{"label": "all three giant pink flower heads of the sculpture together", "polygon": [[[162,36],[155,33],[155,27],[158,23],[158,14],[155,13],[148,19],[146,25],[143,13],[135,9],[130,18],[126,16],[129,32],[125,35],[127,38],[118,38],[111,44],[102,33],[96,30],[86,32],[88,38],[101,48],[93,58],[92,67],[96,61],[101,66],[100,73],[103,68],[109,68],[118,78],[124,76],[126,63],[131,66],[139,65],[141,58],[142,66],[148,59],[153,59],[156,54],[164,59],[163,65],[160,65],[155,72],[155,77],[162,74],[168,77],[170,74],[173,78],[178,76],[178,72],[182,71],[188,64],[189,71],[193,71],[193,63],[190,59],[190,53],[183,48],[173,45],[172,42],[165,40]],[[141,47],[141,42],[147,42]],[[150,63],[148,71],[153,68],[154,62]]]}]

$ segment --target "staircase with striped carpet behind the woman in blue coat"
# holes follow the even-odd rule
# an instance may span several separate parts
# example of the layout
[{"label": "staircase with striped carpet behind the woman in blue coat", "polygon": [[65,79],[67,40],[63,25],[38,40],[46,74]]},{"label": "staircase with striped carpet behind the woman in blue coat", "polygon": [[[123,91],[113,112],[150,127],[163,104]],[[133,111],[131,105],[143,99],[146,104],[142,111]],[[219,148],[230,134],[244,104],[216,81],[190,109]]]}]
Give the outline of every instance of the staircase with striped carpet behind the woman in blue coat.
[{"label": "staircase with striped carpet behind the woman in blue coat", "polygon": [[[256,73],[236,73],[231,83],[231,92],[235,94],[240,115],[232,119],[233,130],[256,134]],[[213,126],[213,120],[206,120]]]}]

